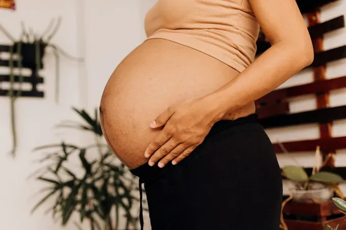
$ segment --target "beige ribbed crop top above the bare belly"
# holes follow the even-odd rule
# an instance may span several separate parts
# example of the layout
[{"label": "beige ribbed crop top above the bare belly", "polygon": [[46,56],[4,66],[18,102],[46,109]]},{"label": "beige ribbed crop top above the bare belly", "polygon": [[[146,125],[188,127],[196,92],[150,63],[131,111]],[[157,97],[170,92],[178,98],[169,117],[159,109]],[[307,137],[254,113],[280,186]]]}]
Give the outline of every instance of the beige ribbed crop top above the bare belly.
[{"label": "beige ribbed crop top above the bare belly", "polygon": [[249,0],[158,0],[145,28],[147,39],[191,47],[239,72],[253,61],[260,30]]}]

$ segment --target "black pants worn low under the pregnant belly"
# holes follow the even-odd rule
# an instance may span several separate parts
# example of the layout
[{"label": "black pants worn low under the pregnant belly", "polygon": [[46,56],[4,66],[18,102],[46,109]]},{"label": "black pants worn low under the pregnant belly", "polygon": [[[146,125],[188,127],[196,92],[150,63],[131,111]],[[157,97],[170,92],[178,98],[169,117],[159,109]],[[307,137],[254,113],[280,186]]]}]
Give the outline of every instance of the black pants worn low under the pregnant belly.
[{"label": "black pants worn low under the pregnant belly", "polygon": [[279,229],[281,172],[256,117],[215,123],[176,166],[131,170],[145,184],[153,230]]}]

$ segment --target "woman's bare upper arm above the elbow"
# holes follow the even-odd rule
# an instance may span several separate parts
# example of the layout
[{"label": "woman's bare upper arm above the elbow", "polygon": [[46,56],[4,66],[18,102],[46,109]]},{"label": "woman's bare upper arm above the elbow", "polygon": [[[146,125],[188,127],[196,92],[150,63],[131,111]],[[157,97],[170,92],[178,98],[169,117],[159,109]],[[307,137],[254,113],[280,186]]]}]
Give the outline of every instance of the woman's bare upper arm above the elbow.
[{"label": "woman's bare upper arm above the elbow", "polygon": [[249,1],[258,23],[272,45],[289,41],[311,46],[309,32],[295,0]]}]

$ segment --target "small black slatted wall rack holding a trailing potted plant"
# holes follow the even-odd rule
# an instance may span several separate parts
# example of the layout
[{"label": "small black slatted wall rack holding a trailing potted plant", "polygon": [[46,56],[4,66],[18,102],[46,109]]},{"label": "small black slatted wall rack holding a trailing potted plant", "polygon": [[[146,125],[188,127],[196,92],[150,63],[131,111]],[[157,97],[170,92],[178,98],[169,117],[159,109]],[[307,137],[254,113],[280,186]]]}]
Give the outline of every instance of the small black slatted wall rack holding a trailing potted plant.
[{"label": "small black slatted wall rack holding a trailing potted plant", "polygon": [[[0,0],[1,1],[1,0]],[[61,49],[59,46],[51,43],[51,39],[59,30],[62,19],[52,19],[47,29],[38,35],[32,28],[25,28],[21,23],[22,32],[19,39],[15,39],[10,32],[0,25],[0,31],[12,42],[10,45],[0,45],[0,67],[9,68],[8,75],[0,75],[0,96],[10,97],[11,108],[11,127],[13,147],[11,154],[14,156],[17,147],[16,123],[15,123],[15,101],[18,97],[44,97],[44,92],[37,89],[38,84],[44,82],[44,78],[39,75],[43,69],[43,57],[47,48],[51,48],[55,56],[55,102],[59,101],[59,54],[76,61],[82,61],[82,58],[75,58]],[[2,59],[1,53],[8,53],[7,59]],[[31,71],[30,76],[23,76],[22,69]],[[16,74],[15,74],[16,72]],[[3,84],[7,83],[7,84]],[[22,90],[22,84],[30,84],[31,90]]]}]

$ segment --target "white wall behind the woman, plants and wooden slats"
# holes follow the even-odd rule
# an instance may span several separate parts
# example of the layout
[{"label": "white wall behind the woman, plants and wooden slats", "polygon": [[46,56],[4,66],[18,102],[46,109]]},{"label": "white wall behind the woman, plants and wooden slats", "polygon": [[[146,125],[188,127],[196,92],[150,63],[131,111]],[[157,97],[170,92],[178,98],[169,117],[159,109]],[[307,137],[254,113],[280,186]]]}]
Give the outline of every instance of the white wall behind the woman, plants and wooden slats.
[{"label": "white wall behind the woman, plants and wooden slats", "polygon": [[[112,156],[107,155],[109,151],[104,146],[105,142],[99,130],[95,110],[98,109],[103,88],[113,70],[129,52],[146,38],[143,28],[144,18],[155,2],[155,0],[16,0],[15,10],[0,8],[0,28],[2,28],[0,30],[0,75],[2,75],[0,89],[8,90],[11,88],[11,77],[14,81],[20,81],[21,75],[28,77],[36,74],[34,76],[36,80],[22,80],[23,96],[13,96],[18,91],[12,91],[12,96],[10,95],[11,90],[9,90],[10,92],[0,91],[2,95],[0,96],[0,138],[2,140],[0,142],[2,149],[0,155],[1,229],[54,230],[62,229],[61,225],[65,222],[64,229],[98,229],[97,224],[93,223],[92,216],[94,214],[96,216],[95,221],[100,222],[101,229],[133,229],[134,226],[138,226],[138,220],[136,219],[138,216],[137,181],[130,176],[127,178],[125,175],[127,174],[126,169],[122,168],[117,162],[114,162],[108,168],[104,165],[97,165],[100,160],[105,158],[107,158],[107,162],[110,162],[111,160],[108,157]],[[342,16],[346,12],[345,0],[330,2],[333,3],[321,4],[323,5],[319,13],[321,23]],[[304,18],[308,25],[307,16],[304,15]],[[53,19],[54,25],[52,25]],[[344,22],[343,17],[342,20]],[[54,32],[56,24],[60,24],[60,26]],[[22,63],[22,68],[18,68],[16,66],[18,62],[11,61],[11,56],[15,57],[17,53],[20,53],[18,49],[23,52],[26,49],[23,44],[18,44],[18,42],[23,41],[25,43],[25,41],[29,41],[25,40],[25,36],[22,36],[23,25],[25,30],[32,36],[32,46],[26,47],[27,50],[37,51],[40,48],[41,51],[44,50],[44,55],[41,56],[42,63],[37,61],[40,56],[32,56],[34,66],[31,68],[25,68],[25,63]],[[47,47],[43,48],[40,47],[40,42],[35,41],[39,41],[40,36],[45,34],[48,27],[52,29],[45,38],[48,38],[51,34],[53,36],[48,39],[49,41],[47,40]],[[13,44],[15,46],[11,50],[9,47]],[[333,31],[330,30],[323,35],[324,50],[344,45],[346,45],[346,29],[344,26],[340,26]],[[345,54],[346,51],[337,60],[324,63],[326,65],[326,79],[346,76]],[[38,63],[42,66],[38,66]],[[30,61],[26,64],[29,66]],[[314,81],[314,74],[312,68],[306,68],[279,88],[311,83]],[[43,80],[39,77],[42,77]],[[43,81],[43,84],[40,81]],[[37,84],[36,92],[24,96],[24,91],[30,91],[32,84]],[[44,92],[44,95],[39,93],[41,91]],[[287,103],[290,114],[318,109],[315,94],[290,97],[287,99]],[[344,105],[346,105],[346,90],[338,88],[330,91],[328,107]],[[76,122],[79,123],[76,124]],[[57,125],[65,127],[57,127]],[[79,128],[74,128],[76,125],[79,125]],[[69,128],[67,126],[73,127]],[[266,132],[273,143],[314,140],[320,139],[321,135],[319,124],[311,122],[294,126],[267,128]],[[343,136],[346,136],[346,119],[337,119],[333,121],[331,126],[331,137]],[[13,140],[16,140],[16,143]],[[88,160],[85,163],[83,151],[86,149],[88,153],[89,149],[85,146],[93,143],[96,143],[96,147],[100,146],[102,149],[90,151],[100,151],[102,153],[101,158],[86,157]],[[56,144],[57,147],[42,148],[40,151],[35,150],[40,146],[51,144]],[[76,149],[76,154],[72,155]],[[346,167],[346,150],[343,149],[337,149],[336,154],[333,154],[335,167]],[[71,154],[71,157],[68,160],[62,160],[64,156],[70,156],[69,154]],[[316,165],[315,155],[315,150],[309,150],[278,154],[277,157],[281,167],[297,165],[298,163],[304,168],[313,168]],[[53,172],[48,173],[53,176],[50,177],[42,176],[44,170],[47,171],[47,165],[46,161],[40,162],[40,160],[45,156],[51,156],[49,160],[52,168],[48,171]],[[95,208],[96,206],[91,204],[92,201],[88,203],[83,200],[83,189],[89,189],[84,188],[85,184],[94,182],[86,181],[85,178],[85,181],[78,179],[79,182],[83,180],[83,183],[79,184],[78,187],[81,190],[72,193],[71,191],[74,191],[72,187],[76,185],[76,182],[72,182],[71,186],[65,184],[72,189],[67,189],[66,193],[63,192],[65,195],[67,194],[66,198],[59,200],[59,194],[62,193],[59,193],[60,190],[57,188],[56,196],[44,201],[37,211],[31,213],[33,207],[45,197],[45,194],[54,190],[42,191],[42,188],[47,187],[47,185],[50,189],[51,187],[62,186],[62,184],[59,184],[61,183],[59,177],[54,177],[57,174],[56,167],[60,161],[66,163],[62,180],[69,182],[76,175],[83,178],[84,173],[88,172],[88,164],[93,164],[93,159],[95,165],[89,167],[101,167],[102,170],[108,170],[105,174],[111,175],[112,178],[109,180],[102,178],[95,184],[99,183],[102,187],[102,183],[106,181],[110,183],[107,186],[111,186],[112,183],[117,186],[117,183],[114,182],[117,180],[116,178],[126,177],[122,189],[131,192],[133,195],[126,196],[124,192],[116,193],[120,194],[118,196],[120,200],[125,199],[126,201],[122,203],[116,199],[116,195],[113,195],[111,201],[113,206],[102,206],[103,210],[98,211]],[[36,172],[42,169],[42,166],[44,166],[44,170]],[[32,175],[35,172],[37,174]],[[45,181],[44,178],[50,178],[55,182]],[[288,180],[284,180],[284,193],[286,195],[290,193],[289,183]],[[346,192],[345,185],[340,184],[343,193]],[[100,189],[102,190],[102,188]],[[102,196],[101,191],[97,193],[92,187],[90,187],[90,190],[90,192],[85,192],[88,193],[88,199],[89,196],[94,195],[96,202],[102,203],[102,201],[105,201],[106,198]],[[114,192],[109,193],[113,194]],[[100,197],[96,197],[97,194]],[[71,195],[70,200],[69,195]],[[132,202],[133,204],[131,204]],[[54,205],[57,207],[57,211],[55,210],[57,214],[55,218],[52,218],[53,211],[48,214],[45,212]],[[122,209],[119,211],[119,215],[113,214],[113,212],[118,213],[118,211],[114,211],[117,210],[117,206]],[[81,207],[84,207],[84,211],[81,211]],[[111,217],[103,216],[105,212],[108,212],[107,210],[112,213],[109,215]],[[147,213],[145,213],[145,217],[146,229],[150,229]],[[112,223],[109,224],[109,221]],[[297,230],[300,228],[290,229]]]}]

